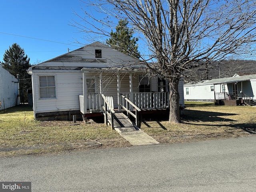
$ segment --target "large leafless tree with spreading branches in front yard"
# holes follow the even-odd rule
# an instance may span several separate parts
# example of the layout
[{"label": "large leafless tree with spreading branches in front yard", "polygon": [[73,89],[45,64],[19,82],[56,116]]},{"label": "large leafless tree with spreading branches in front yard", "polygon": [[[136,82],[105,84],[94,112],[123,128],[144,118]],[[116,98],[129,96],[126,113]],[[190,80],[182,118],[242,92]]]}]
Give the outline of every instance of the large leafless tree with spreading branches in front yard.
[{"label": "large leafless tree with spreading branches in front yard", "polygon": [[[73,22],[81,31],[109,37],[116,18],[144,36],[145,61],[154,61],[148,76],[160,75],[169,83],[170,122],[180,122],[181,78],[190,78],[194,68],[209,69],[212,61],[256,50],[256,0],[99,0],[86,6],[82,21]],[[92,7],[106,17],[94,17],[88,11]]]}]

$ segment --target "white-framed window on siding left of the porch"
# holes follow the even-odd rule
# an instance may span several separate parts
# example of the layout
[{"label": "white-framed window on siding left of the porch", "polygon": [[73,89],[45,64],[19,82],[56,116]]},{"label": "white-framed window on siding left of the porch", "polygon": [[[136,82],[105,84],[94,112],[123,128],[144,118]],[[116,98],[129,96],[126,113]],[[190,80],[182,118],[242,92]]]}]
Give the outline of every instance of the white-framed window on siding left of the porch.
[{"label": "white-framed window on siding left of the porch", "polygon": [[55,76],[39,76],[40,99],[56,98]]}]

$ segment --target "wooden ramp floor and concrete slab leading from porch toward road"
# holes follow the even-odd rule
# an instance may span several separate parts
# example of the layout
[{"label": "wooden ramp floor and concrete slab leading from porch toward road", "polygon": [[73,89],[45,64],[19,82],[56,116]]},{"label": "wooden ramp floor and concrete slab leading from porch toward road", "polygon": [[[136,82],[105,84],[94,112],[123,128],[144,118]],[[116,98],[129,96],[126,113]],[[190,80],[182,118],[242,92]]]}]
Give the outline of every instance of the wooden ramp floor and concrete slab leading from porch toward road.
[{"label": "wooden ramp floor and concrete slab leading from porch toward road", "polygon": [[158,141],[135,127],[122,113],[114,114],[114,129],[133,146],[159,144]]}]

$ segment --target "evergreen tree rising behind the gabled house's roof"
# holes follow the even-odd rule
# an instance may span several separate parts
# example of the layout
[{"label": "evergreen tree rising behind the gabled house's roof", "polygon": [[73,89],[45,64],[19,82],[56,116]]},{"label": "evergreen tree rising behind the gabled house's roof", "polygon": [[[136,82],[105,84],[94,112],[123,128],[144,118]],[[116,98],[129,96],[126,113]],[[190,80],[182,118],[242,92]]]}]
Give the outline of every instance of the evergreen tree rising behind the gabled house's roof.
[{"label": "evergreen tree rising behind the gabled house's roof", "polygon": [[133,30],[128,28],[128,21],[120,20],[116,26],[116,32],[111,30],[111,38],[107,39],[106,42],[115,50],[135,58],[140,58],[140,52],[138,52],[138,44],[136,44],[138,38],[133,38],[132,33]]}]

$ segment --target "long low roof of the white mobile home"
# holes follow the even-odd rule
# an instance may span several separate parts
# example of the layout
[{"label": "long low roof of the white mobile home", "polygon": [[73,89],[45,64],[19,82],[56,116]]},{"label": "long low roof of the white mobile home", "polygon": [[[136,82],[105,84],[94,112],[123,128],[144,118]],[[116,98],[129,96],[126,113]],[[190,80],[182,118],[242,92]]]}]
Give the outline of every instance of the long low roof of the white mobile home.
[{"label": "long low roof of the white mobile home", "polygon": [[241,81],[250,81],[256,79],[256,74],[253,75],[243,75],[239,76],[235,74],[232,77],[226,77],[226,78],[219,78],[219,79],[212,79],[212,80],[204,80],[197,83],[187,83],[184,84],[184,86],[196,86],[196,85],[206,85],[206,84],[221,84],[221,83],[234,83],[234,82],[241,82]]}]

